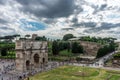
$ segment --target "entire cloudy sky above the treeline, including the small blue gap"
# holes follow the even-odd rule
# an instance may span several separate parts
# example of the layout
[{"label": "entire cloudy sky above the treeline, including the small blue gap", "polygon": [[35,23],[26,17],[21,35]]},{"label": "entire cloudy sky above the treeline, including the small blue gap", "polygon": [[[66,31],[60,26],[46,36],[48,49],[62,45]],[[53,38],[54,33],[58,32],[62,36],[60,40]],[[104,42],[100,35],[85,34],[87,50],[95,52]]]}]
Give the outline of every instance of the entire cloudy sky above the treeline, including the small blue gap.
[{"label": "entire cloudy sky above the treeline, including the small blue gap", "polygon": [[17,33],[120,39],[120,0],[0,0],[0,36]]}]

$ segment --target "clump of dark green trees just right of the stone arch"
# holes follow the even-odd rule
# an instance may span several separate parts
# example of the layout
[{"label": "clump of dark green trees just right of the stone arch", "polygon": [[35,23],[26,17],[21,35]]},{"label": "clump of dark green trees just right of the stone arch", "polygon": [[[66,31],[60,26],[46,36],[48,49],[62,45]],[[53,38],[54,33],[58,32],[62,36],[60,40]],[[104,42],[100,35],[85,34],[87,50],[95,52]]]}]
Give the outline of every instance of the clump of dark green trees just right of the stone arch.
[{"label": "clump of dark green trees just right of the stone arch", "polygon": [[83,53],[83,47],[78,42],[53,41],[52,43],[53,55],[59,55],[59,53],[64,50],[66,50],[68,53],[73,54]]}]

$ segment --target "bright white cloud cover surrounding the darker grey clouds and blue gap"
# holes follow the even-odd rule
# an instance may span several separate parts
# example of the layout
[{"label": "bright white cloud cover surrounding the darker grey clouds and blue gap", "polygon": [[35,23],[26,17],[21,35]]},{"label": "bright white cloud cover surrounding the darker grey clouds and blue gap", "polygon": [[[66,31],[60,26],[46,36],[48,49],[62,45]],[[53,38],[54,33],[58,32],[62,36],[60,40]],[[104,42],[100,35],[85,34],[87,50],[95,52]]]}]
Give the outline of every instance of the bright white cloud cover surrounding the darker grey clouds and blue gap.
[{"label": "bright white cloud cover surrounding the darker grey clouds and blue gap", "polygon": [[[45,0],[46,2],[47,0]],[[50,0],[51,1],[51,0]],[[58,1],[58,0],[54,0]],[[58,2],[48,2],[47,5],[55,5]],[[37,33],[41,36],[45,35],[52,38],[62,38],[64,34],[72,33],[76,36],[82,35],[91,35],[91,36],[112,36],[119,38],[116,34],[120,34],[119,27],[98,30],[98,32],[87,33],[85,30],[100,28],[101,23],[120,23],[120,0],[75,0],[77,8],[74,9],[74,12],[69,16],[62,16],[57,18],[46,18],[38,17],[32,13],[24,13],[21,8],[24,6],[18,3],[15,0],[8,0],[4,5],[0,5],[0,19],[7,21],[6,23],[0,23],[0,26],[6,26],[13,30],[0,30],[1,35],[7,34],[32,34]],[[11,5],[12,4],[12,5]],[[27,5],[26,5],[27,6]],[[31,5],[32,9],[45,9],[44,5],[34,6]],[[83,11],[82,11],[83,9]],[[37,13],[38,14],[38,13]],[[57,13],[58,14],[58,13]],[[72,22],[73,19],[76,19],[75,22]],[[21,19],[26,19],[28,21],[44,23],[47,28],[45,30],[39,31],[24,31],[21,28]],[[82,22],[94,22],[97,23],[96,27],[86,27],[86,26],[73,26],[73,24],[80,24]],[[34,27],[32,25],[26,26],[28,28]],[[63,28],[74,28],[74,30],[62,30]],[[110,33],[110,31],[112,33]]]}]

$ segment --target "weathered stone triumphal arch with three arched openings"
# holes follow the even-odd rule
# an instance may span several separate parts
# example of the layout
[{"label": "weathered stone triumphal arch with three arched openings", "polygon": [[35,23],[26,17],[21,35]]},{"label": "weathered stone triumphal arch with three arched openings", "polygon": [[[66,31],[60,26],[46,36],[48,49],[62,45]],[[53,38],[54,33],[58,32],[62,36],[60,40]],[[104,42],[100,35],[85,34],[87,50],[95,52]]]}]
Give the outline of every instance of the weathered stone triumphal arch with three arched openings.
[{"label": "weathered stone triumphal arch with three arched openings", "polygon": [[46,41],[16,41],[16,70],[31,71],[45,66],[48,62]]}]

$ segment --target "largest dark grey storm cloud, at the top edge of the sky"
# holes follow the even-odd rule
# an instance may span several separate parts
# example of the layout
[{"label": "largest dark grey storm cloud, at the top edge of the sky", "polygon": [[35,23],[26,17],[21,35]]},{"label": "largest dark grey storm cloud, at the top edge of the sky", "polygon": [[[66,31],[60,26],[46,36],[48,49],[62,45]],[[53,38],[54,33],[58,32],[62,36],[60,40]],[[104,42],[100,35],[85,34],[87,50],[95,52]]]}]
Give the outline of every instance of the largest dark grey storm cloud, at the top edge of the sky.
[{"label": "largest dark grey storm cloud, at the top edge of the sky", "polygon": [[56,18],[67,17],[74,11],[74,0],[16,0],[25,13],[37,17]]}]

